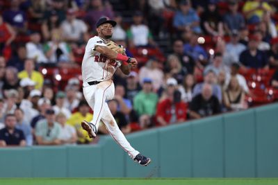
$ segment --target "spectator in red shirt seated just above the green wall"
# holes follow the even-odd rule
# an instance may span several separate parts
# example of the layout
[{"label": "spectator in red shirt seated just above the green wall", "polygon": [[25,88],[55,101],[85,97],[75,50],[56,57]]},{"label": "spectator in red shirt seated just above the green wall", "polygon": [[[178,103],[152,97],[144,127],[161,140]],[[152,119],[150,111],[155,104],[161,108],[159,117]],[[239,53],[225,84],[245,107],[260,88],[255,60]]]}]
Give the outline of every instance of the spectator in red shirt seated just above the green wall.
[{"label": "spectator in red shirt seated just above the green wall", "polygon": [[186,121],[187,105],[181,101],[181,92],[175,90],[173,96],[158,103],[156,109],[156,125],[164,126]]}]

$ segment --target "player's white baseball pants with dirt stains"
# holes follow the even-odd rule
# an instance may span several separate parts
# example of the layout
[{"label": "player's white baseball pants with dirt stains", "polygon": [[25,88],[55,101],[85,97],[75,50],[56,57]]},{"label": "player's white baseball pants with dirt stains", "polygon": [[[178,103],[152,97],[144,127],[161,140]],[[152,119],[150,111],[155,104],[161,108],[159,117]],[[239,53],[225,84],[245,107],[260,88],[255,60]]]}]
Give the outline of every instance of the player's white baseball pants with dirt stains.
[{"label": "player's white baseball pants with dirt stains", "polygon": [[113,139],[134,159],[139,152],[126,140],[106,103],[106,100],[113,99],[114,93],[115,86],[112,80],[100,82],[97,85],[88,85],[86,82],[83,84],[85,99],[94,110],[94,116],[90,123],[95,124],[98,129],[99,121],[103,121]]}]

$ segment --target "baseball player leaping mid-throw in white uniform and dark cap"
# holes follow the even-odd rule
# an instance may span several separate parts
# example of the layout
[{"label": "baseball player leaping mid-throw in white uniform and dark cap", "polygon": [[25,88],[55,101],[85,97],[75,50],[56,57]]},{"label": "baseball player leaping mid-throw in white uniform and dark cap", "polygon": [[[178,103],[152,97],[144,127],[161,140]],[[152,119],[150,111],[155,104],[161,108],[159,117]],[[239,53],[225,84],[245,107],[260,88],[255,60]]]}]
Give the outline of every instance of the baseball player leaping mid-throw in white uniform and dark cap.
[{"label": "baseball player leaping mid-throw in white uniform and dark cap", "polygon": [[143,156],[132,148],[129,141],[117,126],[106,100],[114,96],[113,74],[120,68],[129,75],[131,67],[137,66],[135,58],[125,55],[124,49],[110,41],[113,27],[117,23],[108,17],[101,17],[96,24],[97,36],[88,40],[82,62],[83,94],[90,107],[94,110],[92,121],[83,121],[81,126],[90,137],[97,136],[99,121],[103,121],[113,139],[142,166],[147,166],[151,159]]}]

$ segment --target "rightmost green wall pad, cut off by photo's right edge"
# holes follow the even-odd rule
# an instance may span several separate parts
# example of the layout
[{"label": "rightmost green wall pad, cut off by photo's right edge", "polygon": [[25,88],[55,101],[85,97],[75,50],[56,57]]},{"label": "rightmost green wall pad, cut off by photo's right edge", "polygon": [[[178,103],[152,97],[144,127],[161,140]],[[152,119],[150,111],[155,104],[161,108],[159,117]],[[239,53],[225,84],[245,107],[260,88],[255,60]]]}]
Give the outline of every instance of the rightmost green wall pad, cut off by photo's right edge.
[{"label": "rightmost green wall pad, cut off by photo's right edge", "polygon": [[278,177],[278,105],[256,109],[257,175]]}]

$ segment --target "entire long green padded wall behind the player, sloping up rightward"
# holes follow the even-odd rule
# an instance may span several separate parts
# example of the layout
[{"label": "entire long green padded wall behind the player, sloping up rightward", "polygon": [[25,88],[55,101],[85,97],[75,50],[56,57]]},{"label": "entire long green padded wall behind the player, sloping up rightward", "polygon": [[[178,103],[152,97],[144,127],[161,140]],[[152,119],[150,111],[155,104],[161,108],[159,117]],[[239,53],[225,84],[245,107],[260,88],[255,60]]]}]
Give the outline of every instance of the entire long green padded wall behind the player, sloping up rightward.
[{"label": "entire long green padded wall behind the player, sloping up rightward", "polygon": [[110,136],[92,146],[0,148],[0,177],[278,177],[278,104],[129,134],[135,164]]}]

